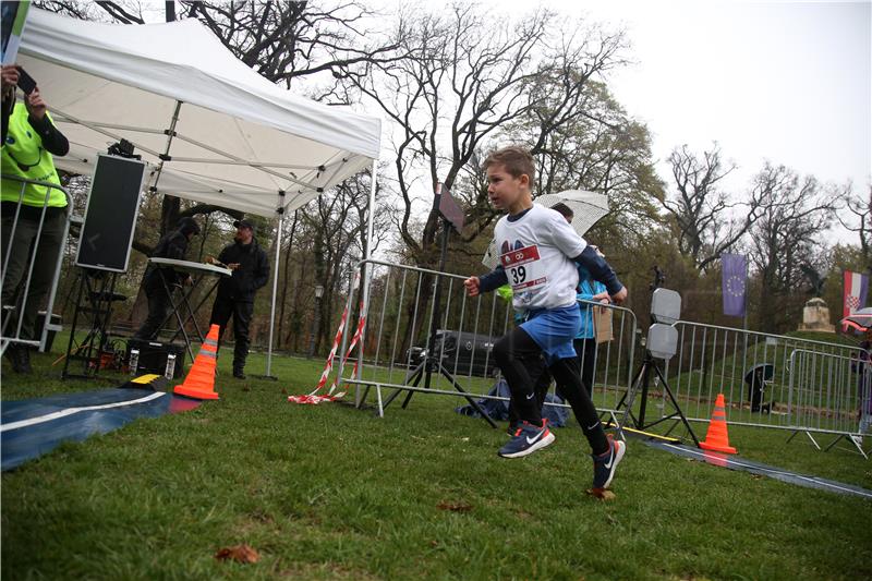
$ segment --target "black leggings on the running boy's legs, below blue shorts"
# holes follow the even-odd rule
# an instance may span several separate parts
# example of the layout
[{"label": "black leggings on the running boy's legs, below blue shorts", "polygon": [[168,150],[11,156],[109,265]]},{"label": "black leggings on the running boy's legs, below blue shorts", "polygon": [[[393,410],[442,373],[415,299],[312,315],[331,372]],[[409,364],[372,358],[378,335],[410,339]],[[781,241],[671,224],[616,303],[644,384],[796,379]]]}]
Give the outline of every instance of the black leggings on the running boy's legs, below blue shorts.
[{"label": "black leggings on the running boy's legs, below blue shorts", "polygon": [[[494,359],[509,384],[512,406],[522,420],[537,426],[542,425],[542,408],[536,399],[528,363],[535,361],[541,354],[538,344],[520,327],[502,336],[494,346]],[[552,364],[549,371],[560,386],[562,396],[569,401],[591,450],[594,453],[607,451],[606,434],[591,396],[581,384],[578,360],[561,359]]]}]

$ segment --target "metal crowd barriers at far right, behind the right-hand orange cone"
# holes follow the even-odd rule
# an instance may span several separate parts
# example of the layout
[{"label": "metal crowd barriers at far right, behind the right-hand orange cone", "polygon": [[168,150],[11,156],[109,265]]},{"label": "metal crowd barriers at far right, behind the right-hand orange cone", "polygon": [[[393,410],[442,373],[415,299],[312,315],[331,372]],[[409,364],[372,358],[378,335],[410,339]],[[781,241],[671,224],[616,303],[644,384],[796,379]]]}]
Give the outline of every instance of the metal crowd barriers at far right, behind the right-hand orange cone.
[{"label": "metal crowd barriers at far right, behind the right-hand orange cone", "polygon": [[[869,410],[872,367],[857,347],[678,322],[678,353],[665,374],[691,421],[707,422],[724,394],[730,424],[848,439],[863,456],[861,410]],[[656,387],[654,388],[656,390]],[[665,408],[664,408],[665,409]]]}]

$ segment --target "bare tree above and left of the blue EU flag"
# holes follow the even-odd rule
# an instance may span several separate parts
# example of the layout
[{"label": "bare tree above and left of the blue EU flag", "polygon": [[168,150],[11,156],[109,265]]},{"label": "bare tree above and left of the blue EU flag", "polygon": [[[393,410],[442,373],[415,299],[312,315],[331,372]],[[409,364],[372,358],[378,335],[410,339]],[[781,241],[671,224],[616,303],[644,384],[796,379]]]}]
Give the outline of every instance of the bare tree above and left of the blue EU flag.
[{"label": "bare tree above and left of the blue EU flag", "polygon": [[[743,202],[731,202],[720,182],[735,169],[725,162],[715,143],[711,150],[698,155],[687,145],[669,156],[676,195],[667,196],[663,207],[678,231],[680,252],[693,259],[701,270],[732,247],[759,218],[759,191],[753,190]],[[738,213],[738,208],[742,208]],[[741,217],[735,218],[735,214]]]}]

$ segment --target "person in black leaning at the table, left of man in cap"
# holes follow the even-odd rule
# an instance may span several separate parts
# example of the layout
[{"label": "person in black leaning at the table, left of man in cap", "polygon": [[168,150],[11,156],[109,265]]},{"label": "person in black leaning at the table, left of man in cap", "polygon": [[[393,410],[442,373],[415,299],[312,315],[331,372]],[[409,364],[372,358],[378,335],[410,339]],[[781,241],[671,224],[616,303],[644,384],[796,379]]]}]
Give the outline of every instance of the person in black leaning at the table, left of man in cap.
[{"label": "person in black leaning at the table, left of man in cap", "polygon": [[[175,230],[166,234],[155,246],[152,258],[173,258],[183,261],[187,253],[187,243],[191,237],[199,234],[199,226],[193,218],[182,218]],[[164,280],[160,275],[164,275]],[[164,281],[166,280],[166,286]],[[191,277],[184,273],[178,273],[172,268],[160,268],[149,264],[143,276],[143,290],[148,298],[148,318],[133,336],[134,339],[146,339],[148,341],[157,338],[160,332],[160,324],[167,318],[172,307],[172,301],[167,289],[172,290],[180,285],[191,282]]]}]

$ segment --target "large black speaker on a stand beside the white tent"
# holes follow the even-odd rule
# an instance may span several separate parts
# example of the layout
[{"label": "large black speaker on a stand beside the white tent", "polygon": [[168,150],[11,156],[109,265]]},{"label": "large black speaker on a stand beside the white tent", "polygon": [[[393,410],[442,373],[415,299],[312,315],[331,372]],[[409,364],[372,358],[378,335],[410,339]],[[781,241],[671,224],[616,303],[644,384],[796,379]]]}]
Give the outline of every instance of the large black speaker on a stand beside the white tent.
[{"label": "large black speaker on a stand beside the white tent", "polygon": [[[97,375],[108,344],[112,305],[126,299],[116,293],[116,281],[120,273],[128,271],[145,177],[145,164],[132,150],[113,146],[110,152],[117,155],[99,155],[94,168],[75,261],[78,290],[63,364],[64,379]],[[88,330],[82,340],[76,340],[76,329],[86,319]],[[81,373],[70,371],[73,362],[82,364]]]}]

